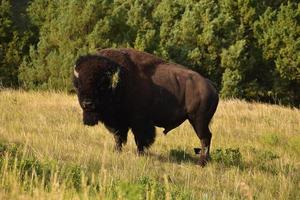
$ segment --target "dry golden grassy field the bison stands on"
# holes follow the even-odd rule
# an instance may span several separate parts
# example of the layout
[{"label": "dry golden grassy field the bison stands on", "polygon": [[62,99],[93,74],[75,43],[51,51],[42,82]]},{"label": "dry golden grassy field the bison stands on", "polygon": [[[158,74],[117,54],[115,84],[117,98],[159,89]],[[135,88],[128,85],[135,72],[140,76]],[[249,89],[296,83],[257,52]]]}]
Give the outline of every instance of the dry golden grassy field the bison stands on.
[{"label": "dry golden grassy field the bison stands on", "polygon": [[300,199],[300,111],[221,101],[212,162],[185,123],[157,129],[146,156],[130,134],[121,154],[102,126],[85,127],[73,95],[0,92],[0,199]]}]

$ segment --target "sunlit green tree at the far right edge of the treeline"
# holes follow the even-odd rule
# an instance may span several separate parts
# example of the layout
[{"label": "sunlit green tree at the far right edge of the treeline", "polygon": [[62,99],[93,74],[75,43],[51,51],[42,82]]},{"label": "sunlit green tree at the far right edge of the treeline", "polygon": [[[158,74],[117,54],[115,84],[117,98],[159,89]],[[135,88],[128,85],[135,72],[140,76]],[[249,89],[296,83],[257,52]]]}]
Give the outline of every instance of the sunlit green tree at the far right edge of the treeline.
[{"label": "sunlit green tree at the far right edge of the treeline", "polygon": [[282,103],[300,105],[300,4],[267,9],[255,24],[263,57],[273,70],[270,95]]}]

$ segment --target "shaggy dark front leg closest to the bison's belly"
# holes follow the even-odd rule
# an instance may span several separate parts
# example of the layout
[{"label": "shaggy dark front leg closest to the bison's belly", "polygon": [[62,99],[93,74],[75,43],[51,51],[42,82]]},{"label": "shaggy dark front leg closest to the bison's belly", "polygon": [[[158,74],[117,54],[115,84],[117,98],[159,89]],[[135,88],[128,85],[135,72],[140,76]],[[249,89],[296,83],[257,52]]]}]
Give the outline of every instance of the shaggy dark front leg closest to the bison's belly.
[{"label": "shaggy dark front leg closest to the bison's belly", "polygon": [[149,148],[155,141],[155,127],[152,123],[137,123],[132,127],[132,133],[139,154],[144,154],[145,148]]}]

